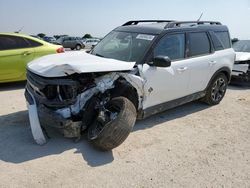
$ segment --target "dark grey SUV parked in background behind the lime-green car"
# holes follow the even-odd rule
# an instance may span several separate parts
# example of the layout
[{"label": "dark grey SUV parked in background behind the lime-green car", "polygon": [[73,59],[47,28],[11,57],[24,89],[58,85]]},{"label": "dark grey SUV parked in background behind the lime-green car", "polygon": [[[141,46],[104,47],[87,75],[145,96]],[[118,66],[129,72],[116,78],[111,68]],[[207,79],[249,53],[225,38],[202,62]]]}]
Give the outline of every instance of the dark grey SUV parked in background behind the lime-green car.
[{"label": "dark grey SUV parked in background behind the lime-green car", "polygon": [[85,45],[80,37],[60,37],[55,43],[61,44],[64,48],[70,48],[71,50],[81,50],[85,48]]}]

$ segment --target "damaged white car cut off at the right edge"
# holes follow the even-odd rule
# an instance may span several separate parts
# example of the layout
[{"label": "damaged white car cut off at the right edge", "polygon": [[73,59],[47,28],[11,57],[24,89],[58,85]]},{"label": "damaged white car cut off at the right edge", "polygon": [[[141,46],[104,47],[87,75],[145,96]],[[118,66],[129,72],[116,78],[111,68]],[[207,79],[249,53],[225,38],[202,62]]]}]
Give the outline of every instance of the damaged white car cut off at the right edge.
[{"label": "damaged white car cut off at the right edge", "polygon": [[236,60],[232,78],[250,83],[250,40],[238,40],[233,43]]}]

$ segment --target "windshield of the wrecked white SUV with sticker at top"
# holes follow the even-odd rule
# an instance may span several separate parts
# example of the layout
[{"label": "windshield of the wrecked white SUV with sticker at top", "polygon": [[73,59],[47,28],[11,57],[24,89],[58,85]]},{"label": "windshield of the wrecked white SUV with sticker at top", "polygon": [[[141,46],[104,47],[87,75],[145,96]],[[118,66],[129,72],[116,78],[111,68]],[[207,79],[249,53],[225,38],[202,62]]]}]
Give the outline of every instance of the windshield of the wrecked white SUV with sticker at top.
[{"label": "windshield of the wrecked white SUV with sticker at top", "polygon": [[112,31],[93,49],[92,54],[136,62],[150,46],[154,35]]}]

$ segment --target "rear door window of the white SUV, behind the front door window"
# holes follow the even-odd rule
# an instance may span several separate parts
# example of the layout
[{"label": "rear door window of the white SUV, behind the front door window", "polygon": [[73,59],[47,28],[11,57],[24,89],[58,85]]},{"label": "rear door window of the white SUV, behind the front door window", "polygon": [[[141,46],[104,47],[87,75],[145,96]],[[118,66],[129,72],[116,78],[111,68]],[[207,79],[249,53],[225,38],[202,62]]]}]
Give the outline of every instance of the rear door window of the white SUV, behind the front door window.
[{"label": "rear door window of the white SUV, behind the front door window", "polygon": [[189,57],[206,55],[211,52],[210,41],[207,33],[189,33],[188,36]]}]

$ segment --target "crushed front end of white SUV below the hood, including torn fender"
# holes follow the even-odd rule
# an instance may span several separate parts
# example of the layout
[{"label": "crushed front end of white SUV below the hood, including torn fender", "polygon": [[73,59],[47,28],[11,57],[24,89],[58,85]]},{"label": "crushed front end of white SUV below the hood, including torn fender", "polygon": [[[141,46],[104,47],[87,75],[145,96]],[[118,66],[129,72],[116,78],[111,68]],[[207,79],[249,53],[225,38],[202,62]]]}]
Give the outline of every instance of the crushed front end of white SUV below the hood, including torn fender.
[{"label": "crushed front end of white SUV below the hood, including torn fender", "polygon": [[[141,108],[142,97],[137,94],[142,96],[142,81],[134,73],[82,73],[47,78],[28,70],[25,97],[35,141],[46,142],[42,129],[47,126],[58,128],[64,137],[79,139],[115,96],[126,96],[136,108]],[[133,92],[137,94],[131,95]]]}]

